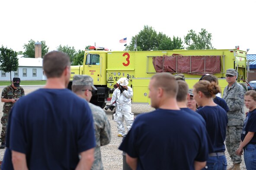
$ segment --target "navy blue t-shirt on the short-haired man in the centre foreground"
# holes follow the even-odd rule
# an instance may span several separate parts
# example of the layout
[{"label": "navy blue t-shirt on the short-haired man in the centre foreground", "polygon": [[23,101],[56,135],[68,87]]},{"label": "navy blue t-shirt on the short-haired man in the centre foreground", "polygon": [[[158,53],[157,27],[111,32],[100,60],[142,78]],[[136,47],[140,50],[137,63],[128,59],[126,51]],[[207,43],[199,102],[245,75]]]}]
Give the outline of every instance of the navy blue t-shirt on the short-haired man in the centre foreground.
[{"label": "navy blue t-shirt on the short-haired man in the centre foreground", "polygon": [[193,170],[208,159],[206,135],[192,114],[157,109],[136,117],[119,149],[138,158],[137,170]]}]

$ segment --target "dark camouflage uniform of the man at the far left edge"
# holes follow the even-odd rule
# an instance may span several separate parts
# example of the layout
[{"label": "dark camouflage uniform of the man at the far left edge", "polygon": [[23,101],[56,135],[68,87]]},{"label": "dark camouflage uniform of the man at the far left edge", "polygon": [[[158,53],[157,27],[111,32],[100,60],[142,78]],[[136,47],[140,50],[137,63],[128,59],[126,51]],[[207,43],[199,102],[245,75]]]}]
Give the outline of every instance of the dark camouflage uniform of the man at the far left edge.
[{"label": "dark camouflage uniform of the man at the far left edge", "polygon": [[[3,88],[1,98],[6,99],[17,99],[21,96],[24,96],[24,90],[22,87],[17,87],[17,89],[13,88],[12,85],[9,85],[5,88]],[[0,137],[0,142],[5,143],[6,142],[6,131],[7,131],[7,123],[8,123],[8,116],[11,111],[11,108],[13,107],[13,102],[8,102],[3,104],[3,117],[1,118],[2,123],[2,132]]]}]

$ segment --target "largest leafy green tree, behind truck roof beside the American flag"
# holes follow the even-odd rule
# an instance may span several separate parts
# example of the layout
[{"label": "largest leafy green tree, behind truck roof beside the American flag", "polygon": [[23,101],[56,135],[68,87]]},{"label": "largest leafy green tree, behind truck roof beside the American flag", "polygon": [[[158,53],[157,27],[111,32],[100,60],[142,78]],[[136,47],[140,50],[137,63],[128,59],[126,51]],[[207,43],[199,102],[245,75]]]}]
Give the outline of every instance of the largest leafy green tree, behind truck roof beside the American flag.
[{"label": "largest leafy green tree, behind truck roof beside the American flag", "polygon": [[155,31],[148,25],[144,26],[144,29],[131,38],[131,43],[126,47],[127,50],[133,50],[135,40],[137,40],[137,50],[174,50],[184,49],[181,38],[175,38],[173,40],[167,35]]}]

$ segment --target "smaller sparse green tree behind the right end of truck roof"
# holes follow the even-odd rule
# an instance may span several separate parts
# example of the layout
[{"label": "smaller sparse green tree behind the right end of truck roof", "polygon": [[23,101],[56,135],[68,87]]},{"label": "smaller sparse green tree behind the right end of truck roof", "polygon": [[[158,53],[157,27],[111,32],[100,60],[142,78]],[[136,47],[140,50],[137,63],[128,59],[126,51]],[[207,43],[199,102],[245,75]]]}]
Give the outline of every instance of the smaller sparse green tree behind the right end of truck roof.
[{"label": "smaller sparse green tree behind the right end of truck roof", "polygon": [[211,44],[211,33],[208,33],[205,29],[201,29],[198,34],[194,30],[189,30],[189,33],[184,36],[187,50],[205,50],[213,49]]}]

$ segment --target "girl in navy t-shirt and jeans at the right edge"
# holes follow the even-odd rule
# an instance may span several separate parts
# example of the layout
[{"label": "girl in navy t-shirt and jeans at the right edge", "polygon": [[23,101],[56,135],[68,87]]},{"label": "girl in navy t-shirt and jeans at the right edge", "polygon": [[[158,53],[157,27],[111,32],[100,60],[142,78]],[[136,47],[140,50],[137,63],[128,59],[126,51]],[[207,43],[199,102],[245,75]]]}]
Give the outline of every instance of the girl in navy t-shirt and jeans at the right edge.
[{"label": "girl in navy t-shirt and jeans at the right edge", "polygon": [[256,170],[256,91],[247,91],[244,95],[244,104],[249,112],[243,123],[241,142],[236,151],[242,155],[244,151],[244,162],[247,170]]}]

